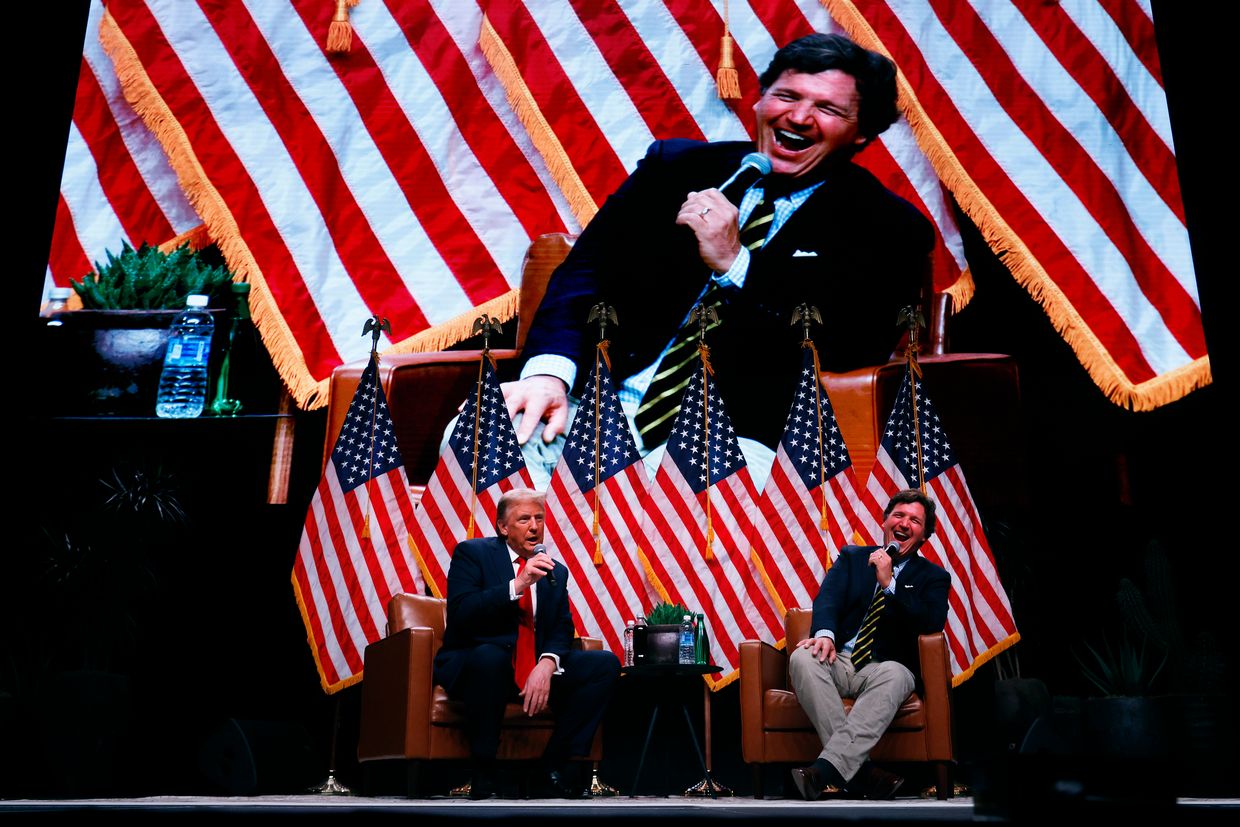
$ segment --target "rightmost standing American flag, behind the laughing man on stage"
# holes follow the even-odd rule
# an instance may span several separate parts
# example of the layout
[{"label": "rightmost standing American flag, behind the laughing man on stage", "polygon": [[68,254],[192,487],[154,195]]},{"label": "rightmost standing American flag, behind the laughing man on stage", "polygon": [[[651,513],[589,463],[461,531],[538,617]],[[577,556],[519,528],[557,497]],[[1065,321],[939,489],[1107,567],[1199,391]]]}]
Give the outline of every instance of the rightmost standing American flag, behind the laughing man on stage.
[{"label": "rightmost standing American flag, behind the laughing man on stage", "polygon": [[892,495],[921,489],[935,501],[939,526],[921,553],[951,574],[945,631],[952,683],[960,684],[978,666],[1021,640],[1021,634],[965,472],[934,403],[914,376],[915,366],[910,361],[866,482],[863,497],[869,518],[863,520],[863,526],[872,543],[882,543],[883,507]]}]

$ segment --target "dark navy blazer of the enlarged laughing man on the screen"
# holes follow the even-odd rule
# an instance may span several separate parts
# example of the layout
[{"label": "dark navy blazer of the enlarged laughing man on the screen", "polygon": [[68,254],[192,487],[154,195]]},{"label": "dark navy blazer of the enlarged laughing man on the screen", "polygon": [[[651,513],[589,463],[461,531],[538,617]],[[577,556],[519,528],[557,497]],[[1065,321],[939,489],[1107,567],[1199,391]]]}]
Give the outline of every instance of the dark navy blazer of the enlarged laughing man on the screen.
[{"label": "dark navy blazer of the enlarged laughing man on the screen", "polygon": [[[744,141],[656,141],[606,200],[557,268],[522,355],[593,363],[589,309],[606,301],[613,376],[651,365],[672,340],[709,278],[697,239],[676,214],[689,191],[717,187],[753,151]],[[737,433],[775,445],[801,366],[801,303],[816,305],[813,331],[823,369],[888,361],[901,330],[899,309],[918,301],[934,245],[930,222],[868,171],[831,162],[823,184],[765,247],[753,254],[745,285],[719,309],[707,335],[715,381]],[[577,389],[588,369],[579,369]]]}]

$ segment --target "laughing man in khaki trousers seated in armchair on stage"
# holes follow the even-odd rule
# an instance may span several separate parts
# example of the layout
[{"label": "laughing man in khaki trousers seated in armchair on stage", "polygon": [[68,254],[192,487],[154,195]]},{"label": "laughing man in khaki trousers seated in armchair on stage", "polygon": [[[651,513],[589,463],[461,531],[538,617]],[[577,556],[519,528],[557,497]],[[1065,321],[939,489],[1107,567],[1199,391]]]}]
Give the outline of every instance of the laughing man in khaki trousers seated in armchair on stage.
[{"label": "laughing man in khaki trousers seated in armchair on stage", "polygon": [[[792,770],[801,795],[890,798],[903,779],[866,764],[916,683],[918,636],[942,631],[951,575],[918,554],[934,534],[934,501],[900,491],[883,512],[883,547],[848,546],[813,599],[812,637],[789,658],[796,697],[822,753]],[[853,698],[844,713],[842,698]]]}]

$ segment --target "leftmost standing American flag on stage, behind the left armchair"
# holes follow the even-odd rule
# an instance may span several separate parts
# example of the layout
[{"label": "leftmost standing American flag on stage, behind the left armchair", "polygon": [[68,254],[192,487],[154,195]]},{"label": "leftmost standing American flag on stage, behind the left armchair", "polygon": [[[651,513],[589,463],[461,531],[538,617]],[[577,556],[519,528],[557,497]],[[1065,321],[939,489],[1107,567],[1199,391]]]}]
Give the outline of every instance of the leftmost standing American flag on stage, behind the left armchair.
[{"label": "leftmost standing American flag on stage, behind the left armchair", "polygon": [[405,546],[409,481],[377,376],[372,360],[310,500],[293,565],[293,591],[326,692],[362,678],[362,655],[384,635],[392,595],[423,591]]}]

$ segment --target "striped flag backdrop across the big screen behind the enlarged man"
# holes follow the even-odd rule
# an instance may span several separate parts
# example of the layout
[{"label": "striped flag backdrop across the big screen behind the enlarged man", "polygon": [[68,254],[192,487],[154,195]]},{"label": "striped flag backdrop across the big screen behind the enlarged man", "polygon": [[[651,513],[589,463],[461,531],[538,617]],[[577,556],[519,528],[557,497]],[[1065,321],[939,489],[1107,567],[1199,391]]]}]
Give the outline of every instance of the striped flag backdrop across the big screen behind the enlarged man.
[{"label": "striped flag backdrop across the big screen behind the enlarged man", "polygon": [[940,179],[1112,399],[1209,382],[1145,0],[361,0],[329,55],[335,5],[95,4],[48,283],[201,221],[294,397],[322,404],[373,312],[392,350],[510,315],[531,237],[579,229],[653,138],[749,135],[776,46],[842,26],[903,69],[908,120],[859,160],[935,222],[957,306]]}]

